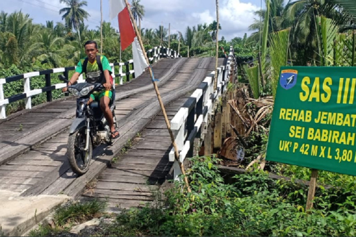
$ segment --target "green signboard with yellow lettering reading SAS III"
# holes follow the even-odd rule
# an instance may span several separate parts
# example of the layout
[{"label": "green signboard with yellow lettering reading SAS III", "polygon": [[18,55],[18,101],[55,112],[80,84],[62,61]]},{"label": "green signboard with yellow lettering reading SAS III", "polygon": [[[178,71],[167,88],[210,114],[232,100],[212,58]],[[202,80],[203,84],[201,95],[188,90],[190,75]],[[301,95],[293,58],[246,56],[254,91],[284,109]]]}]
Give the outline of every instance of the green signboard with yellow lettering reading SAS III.
[{"label": "green signboard with yellow lettering reading SAS III", "polygon": [[266,160],[356,176],[355,87],[355,67],[281,67]]}]

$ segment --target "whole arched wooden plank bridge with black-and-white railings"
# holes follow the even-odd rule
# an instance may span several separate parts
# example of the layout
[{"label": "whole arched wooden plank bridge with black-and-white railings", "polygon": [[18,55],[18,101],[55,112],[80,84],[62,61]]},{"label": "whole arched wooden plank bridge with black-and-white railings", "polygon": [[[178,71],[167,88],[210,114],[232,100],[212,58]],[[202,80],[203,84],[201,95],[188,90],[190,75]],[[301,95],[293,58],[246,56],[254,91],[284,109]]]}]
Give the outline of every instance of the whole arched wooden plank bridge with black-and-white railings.
[{"label": "whole arched wooden plank bridge with black-and-white railings", "polygon": [[[159,79],[159,92],[183,162],[193,156],[194,143],[203,141],[205,124],[226,90],[230,70],[234,70],[230,66],[235,59],[233,49],[228,58],[219,59],[217,75],[215,58],[182,58],[163,47],[148,50],[147,55]],[[66,84],[51,84],[51,75],[68,76],[75,67],[0,79],[0,190],[20,192],[21,196],[109,198],[109,208],[115,211],[118,204],[127,208],[151,201],[151,190],[158,190],[167,179],[179,178],[151,77],[143,72],[135,78],[130,64],[132,60],[111,64],[113,71],[119,67],[115,114],[120,137],[111,146],[96,147],[89,171],[80,177],[71,171],[66,156],[76,101],[70,96],[52,101],[52,91]],[[34,76],[42,76],[46,87],[31,88]],[[4,98],[3,84],[17,80],[24,81],[24,92]],[[47,103],[31,107],[31,97],[39,93],[46,93]],[[6,116],[6,104],[20,99],[25,99],[26,109]],[[123,152],[128,141],[132,147]]]}]

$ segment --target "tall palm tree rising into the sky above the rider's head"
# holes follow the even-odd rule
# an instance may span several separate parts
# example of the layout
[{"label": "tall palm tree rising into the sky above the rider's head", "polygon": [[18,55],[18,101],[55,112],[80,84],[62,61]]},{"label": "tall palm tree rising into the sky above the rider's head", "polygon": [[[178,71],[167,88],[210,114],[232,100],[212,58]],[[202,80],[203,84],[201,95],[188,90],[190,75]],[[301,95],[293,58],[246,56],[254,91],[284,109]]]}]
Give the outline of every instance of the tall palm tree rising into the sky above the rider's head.
[{"label": "tall palm tree rising into the sky above the rider's head", "polygon": [[59,14],[63,14],[63,19],[68,19],[67,23],[70,28],[74,27],[78,31],[79,41],[80,41],[80,32],[79,24],[84,22],[84,19],[88,19],[90,16],[87,11],[82,9],[83,6],[88,6],[87,1],[80,0],[59,0],[60,3],[67,4],[68,7],[64,7],[59,10]]}]

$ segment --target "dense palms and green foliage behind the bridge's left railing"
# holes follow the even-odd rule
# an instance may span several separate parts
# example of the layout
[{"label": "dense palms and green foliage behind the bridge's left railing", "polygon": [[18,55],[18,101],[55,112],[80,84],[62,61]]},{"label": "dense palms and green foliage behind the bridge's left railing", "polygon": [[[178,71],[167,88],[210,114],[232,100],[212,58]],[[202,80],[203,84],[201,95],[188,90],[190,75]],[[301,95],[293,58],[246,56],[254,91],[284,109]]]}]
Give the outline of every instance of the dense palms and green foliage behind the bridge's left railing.
[{"label": "dense palms and green foliage behind the bridge's left railing", "polygon": [[[30,15],[23,14],[21,11],[0,12],[0,78],[31,71],[74,66],[80,58],[85,56],[83,45],[87,40],[95,40],[99,49],[103,47],[103,54],[110,63],[120,61],[120,35],[110,22],[103,22],[103,45],[100,45],[100,26],[89,29],[89,26],[84,24],[84,20],[90,18],[85,10],[87,2],[81,0],[60,0],[60,2],[67,5],[58,12],[63,22],[47,21],[43,25],[35,23]],[[145,15],[145,7],[140,0],[133,0],[131,10],[140,25]],[[171,34],[169,46],[177,52],[179,48],[180,54],[185,57],[188,54],[188,47],[190,57],[214,57],[215,30],[215,21],[210,24],[189,26],[185,32]],[[142,28],[141,36],[146,50],[159,45],[168,47],[168,29],[163,26],[156,29]],[[226,42],[222,37],[219,45],[229,52],[230,43],[241,42],[241,38]],[[219,55],[224,56],[220,49]],[[131,46],[121,53],[121,61],[130,59],[132,59]],[[126,67],[122,70],[125,73]],[[129,70],[132,70],[132,65]],[[118,72],[119,68],[116,67],[115,71]],[[69,73],[69,76],[72,74],[73,71]],[[51,75],[52,85],[60,83],[57,76],[58,74]],[[123,80],[125,82],[126,77]],[[41,87],[45,87],[45,76],[32,77],[31,89]],[[22,93],[23,81],[5,84],[4,92],[5,98]],[[54,90],[52,97],[53,99],[63,97],[61,90]],[[46,93],[32,97],[32,106],[43,102],[46,102]],[[24,100],[6,105],[7,115],[24,109],[24,105]]]}]

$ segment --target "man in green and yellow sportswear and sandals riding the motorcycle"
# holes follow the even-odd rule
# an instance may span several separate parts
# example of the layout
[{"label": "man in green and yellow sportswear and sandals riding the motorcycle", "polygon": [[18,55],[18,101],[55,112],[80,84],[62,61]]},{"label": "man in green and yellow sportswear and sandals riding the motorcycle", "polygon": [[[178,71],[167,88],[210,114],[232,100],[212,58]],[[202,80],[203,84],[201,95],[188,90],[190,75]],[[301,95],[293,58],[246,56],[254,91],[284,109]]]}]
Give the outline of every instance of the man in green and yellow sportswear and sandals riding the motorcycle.
[{"label": "man in green and yellow sportswear and sandals riding the motorcycle", "polygon": [[[100,108],[103,111],[106,120],[108,120],[112,139],[116,139],[120,136],[119,131],[115,130],[114,119],[109,108],[110,100],[112,99],[112,77],[111,68],[108,59],[103,55],[97,55],[98,45],[95,41],[87,41],[84,44],[86,58],[79,60],[77,68],[73,76],[70,78],[67,86],[73,85],[78,80],[80,74],[85,72],[85,81],[88,83],[101,83],[105,90],[100,92],[93,92],[90,95],[88,104],[93,101],[100,101]],[[67,87],[62,89],[63,92],[67,91]],[[115,92],[114,92],[115,93]]]}]

